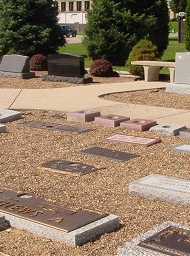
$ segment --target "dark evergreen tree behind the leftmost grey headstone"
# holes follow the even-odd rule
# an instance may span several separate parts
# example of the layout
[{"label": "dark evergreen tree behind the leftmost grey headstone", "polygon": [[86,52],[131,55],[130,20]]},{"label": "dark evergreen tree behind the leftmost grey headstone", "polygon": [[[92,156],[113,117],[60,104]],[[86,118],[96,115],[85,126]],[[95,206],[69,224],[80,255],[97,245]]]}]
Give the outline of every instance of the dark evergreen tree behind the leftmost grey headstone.
[{"label": "dark evergreen tree behind the leftmost grey headstone", "polygon": [[2,54],[56,53],[65,44],[53,0],[0,0]]}]

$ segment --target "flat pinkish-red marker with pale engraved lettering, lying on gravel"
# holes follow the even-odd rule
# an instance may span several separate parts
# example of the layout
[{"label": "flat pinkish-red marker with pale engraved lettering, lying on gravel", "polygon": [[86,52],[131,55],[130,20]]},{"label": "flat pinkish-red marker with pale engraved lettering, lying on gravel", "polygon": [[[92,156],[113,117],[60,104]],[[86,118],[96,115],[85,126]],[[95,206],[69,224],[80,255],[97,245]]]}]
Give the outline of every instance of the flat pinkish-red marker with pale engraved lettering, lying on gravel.
[{"label": "flat pinkish-red marker with pale engraved lettering, lying on gravel", "polygon": [[151,146],[153,144],[161,142],[161,139],[136,137],[136,136],[129,136],[124,134],[113,134],[103,138],[103,140],[107,140],[110,142],[127,143],[131,145],[136,145],[136,146]]}]

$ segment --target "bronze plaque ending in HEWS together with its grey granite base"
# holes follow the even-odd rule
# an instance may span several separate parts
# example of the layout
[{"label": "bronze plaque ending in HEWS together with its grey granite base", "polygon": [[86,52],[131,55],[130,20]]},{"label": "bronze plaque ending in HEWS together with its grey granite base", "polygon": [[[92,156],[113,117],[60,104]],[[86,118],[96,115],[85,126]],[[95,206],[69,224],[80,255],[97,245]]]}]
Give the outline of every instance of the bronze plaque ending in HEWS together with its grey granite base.
[{"label": "bronze plaque ending in HEWS together with its grey granite base", "polygon": [[[83,245],[99,235],[119,229],[120,226],[119,218],[116,215],[74,206],[63,207],[52,203],[52,199],[49,201],[12,190],[5,192],[4,188],[0,188],[0,190],[2,191],[0,193],[0,217],[5,217],[14,228],[26,230],[54,241]],[[29,204],[30,200],[34,200],[34,202]],[[19,211],[21,217],[18,216]],[[45,223],[45,219],[48,220],[48,223]]]}]

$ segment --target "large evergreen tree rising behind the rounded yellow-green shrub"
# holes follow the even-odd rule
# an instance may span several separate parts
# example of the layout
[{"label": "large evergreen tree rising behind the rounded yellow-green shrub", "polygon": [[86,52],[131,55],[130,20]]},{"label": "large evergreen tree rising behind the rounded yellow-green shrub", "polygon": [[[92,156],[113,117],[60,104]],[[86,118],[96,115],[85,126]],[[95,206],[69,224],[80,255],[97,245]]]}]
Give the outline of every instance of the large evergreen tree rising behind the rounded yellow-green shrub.
[{"label": "large evergreen tree rising behind the rounded yellow-green shrub", "polygon": [[94,0],[88,12],[84,40],[92,59],[124,65],[142,38],[152,41],[160,55],[168,45],[168,7],[165,0]]}]

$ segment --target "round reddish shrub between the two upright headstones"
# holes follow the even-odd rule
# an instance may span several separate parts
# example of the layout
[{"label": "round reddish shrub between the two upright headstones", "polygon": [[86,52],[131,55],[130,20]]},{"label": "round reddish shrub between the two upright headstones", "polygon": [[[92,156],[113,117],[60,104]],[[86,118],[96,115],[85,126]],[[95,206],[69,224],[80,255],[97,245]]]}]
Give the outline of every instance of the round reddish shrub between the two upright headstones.
[{"label": "round reddish shrub between the two upright headstones", "polygon": [[32,56],[30,60],[30,69],[37,71],[47,70],[47,58],[42,54]]}]

